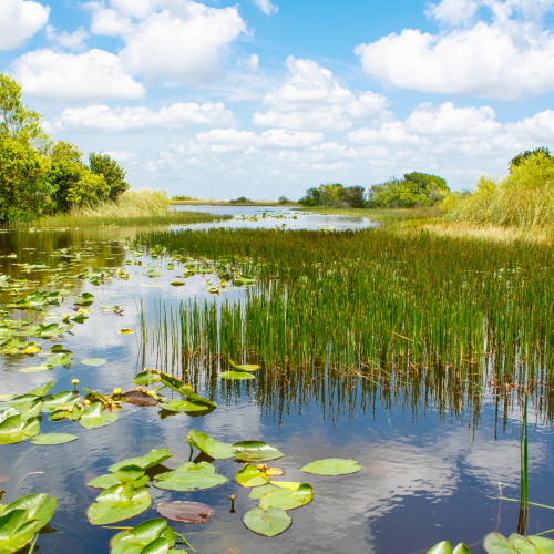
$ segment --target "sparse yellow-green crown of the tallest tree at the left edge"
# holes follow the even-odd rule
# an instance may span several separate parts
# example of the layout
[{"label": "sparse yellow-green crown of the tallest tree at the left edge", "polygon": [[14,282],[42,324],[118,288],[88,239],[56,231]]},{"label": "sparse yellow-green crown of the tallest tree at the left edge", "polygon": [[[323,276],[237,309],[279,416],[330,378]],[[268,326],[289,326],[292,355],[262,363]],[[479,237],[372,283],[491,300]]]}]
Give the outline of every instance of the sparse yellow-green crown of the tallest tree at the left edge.
[{"label": "sparse yellow-green crown of the tallest tree at the left edge", "polygon": [[52,138],[40,126],[42,115],[21,102],[21,85],[0,73],[0,135],[28,142],[39,153],[48,154]]}]

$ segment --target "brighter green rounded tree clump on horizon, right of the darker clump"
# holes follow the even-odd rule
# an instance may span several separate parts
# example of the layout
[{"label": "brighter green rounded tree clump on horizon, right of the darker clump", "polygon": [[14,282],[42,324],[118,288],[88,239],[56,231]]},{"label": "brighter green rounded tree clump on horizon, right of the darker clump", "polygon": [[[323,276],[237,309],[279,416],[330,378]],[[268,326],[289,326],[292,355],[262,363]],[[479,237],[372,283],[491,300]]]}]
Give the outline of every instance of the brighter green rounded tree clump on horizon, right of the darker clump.
[{"label": "brighter green rounded tree clump on horizon, right of the darker clump", "polygon": [[375,208],[413,208],[433,206],[449,193],[447,182],[428,173],[412,172],[403,179],[390,177],[384,183],[371,185],[369,204]]}]

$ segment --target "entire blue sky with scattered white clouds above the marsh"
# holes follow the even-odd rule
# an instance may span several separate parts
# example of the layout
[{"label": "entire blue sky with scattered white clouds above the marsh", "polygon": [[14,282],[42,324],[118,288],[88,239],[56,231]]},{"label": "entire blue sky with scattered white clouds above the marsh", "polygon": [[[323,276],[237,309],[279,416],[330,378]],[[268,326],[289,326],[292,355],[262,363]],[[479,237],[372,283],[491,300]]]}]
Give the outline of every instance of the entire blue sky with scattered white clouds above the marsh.
[{"label": "entire blue sky with scattered white clouds above the marsh", "polygon": [[471,189],[554,146],[554,0],[0,0],[0,71],[135,188]]}]

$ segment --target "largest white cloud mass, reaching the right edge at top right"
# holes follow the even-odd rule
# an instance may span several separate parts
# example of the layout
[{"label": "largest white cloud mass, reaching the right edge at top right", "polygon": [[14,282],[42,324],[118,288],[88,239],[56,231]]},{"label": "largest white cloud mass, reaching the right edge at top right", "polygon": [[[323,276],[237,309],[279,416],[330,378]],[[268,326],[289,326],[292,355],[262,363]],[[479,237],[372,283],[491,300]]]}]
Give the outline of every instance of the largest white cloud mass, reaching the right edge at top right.
[{"label": "largest white cloud mass, reaching the right edge at top right", "polygon": [[552,0],[443,0],[428,13],[466,24],[479,4],[491,23],[438,34],[404,29],[355,51],[363,70],[389,86],[501,100],[554,90],[554,35],[541,23]]}]

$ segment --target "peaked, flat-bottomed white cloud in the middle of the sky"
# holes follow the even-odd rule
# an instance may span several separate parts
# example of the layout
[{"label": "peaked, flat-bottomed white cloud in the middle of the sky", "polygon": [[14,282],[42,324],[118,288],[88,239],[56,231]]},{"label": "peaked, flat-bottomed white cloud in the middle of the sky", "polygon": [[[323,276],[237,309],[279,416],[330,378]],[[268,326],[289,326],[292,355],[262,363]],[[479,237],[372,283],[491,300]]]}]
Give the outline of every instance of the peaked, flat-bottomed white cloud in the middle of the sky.
[{"label": "peaked, flat-bottomed white cloud in the middle of the sky", "polygon": [[387,99],[366,92],[359,98],[312,60],[287,59],[289,75],[264,98],[270,110],[256,112],[255,125],[294,130],[345,130],[352,121],[386,116]]}]

